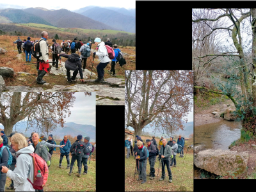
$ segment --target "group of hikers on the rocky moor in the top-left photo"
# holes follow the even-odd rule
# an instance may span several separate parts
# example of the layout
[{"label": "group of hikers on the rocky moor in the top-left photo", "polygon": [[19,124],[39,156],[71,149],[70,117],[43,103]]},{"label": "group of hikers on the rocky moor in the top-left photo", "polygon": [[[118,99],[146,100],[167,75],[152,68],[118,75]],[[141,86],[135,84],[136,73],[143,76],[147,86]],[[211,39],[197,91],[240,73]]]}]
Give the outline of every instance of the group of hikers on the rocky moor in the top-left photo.
[{"label": "group of hikers on the rocky moor in the top-left photo", "polygon": [[[40,40],[34,40],[34,42],[30,41],[30,37],[28,40],[24,40],[23,42],[20,40],[20,37],[13,42],[13,44],[17,44],[17,48],[19,53],[21,53],[21,46],[26,53],[26,61],[30,63],[31,54],[36,58],[36,69],[38,70],[38,77],[36,78],[36,82],[38,84],[44,84],[46,81],[43,80],[43,77],[47,72],[51,70],[51,67],[56,67],[58,70],[59,65],[58,61],[61,59],[61,56],[67,58],[65,61],[65,68],[67,69],[67,81],[68,83],[72,83],[72,81],[76,81],[76,76],[79,72],[80,81],[84,82],[83,72],[86,68],[86,60],[90,57],[91,49],[92,49],[92,40],[89,42],[82,42],[81,40],[77,41],[76,38],[72,42],[70,40],[63,40],[59,45],[55,39],[52,39],[52,45],[48,44],[47,38],[48,33],[46,31],[42,31],[42,38]],[[126,61],[123,57],[123,53],[118,49],[118,45],[112,45],[109,38],[107,42],[103,42],[99,37],[94,40],[97,48],[93,52],[93,61],[95,56],[99,57],[100,63],[97,65],[97,74],[98,78],[95,79],[95,82],[104,81],[104,68],[108,65],[109,61],[111,62],[111,70],[108,70],[109,74],[113,77],[116,77],[115,73],[115,65],[119,62],[120,66],[126,64]],[[52,62],[49,62],[49,47],[52,50]],[[114,48],[114,49],[113,49]],[[61,53],[61,51],[65,53]],[[71,51],[71,54],[68,52]],[[76,54],[78,51],[78,54]],[[79,53],[81,53],[79,55]],[[28,59],[29,55],[29,59]],[[52,63],[52,65],[49,65]],[[83,63],[83,68],[82,68]],[[71,77],[70,70],[74,70],[73,76]]]}]

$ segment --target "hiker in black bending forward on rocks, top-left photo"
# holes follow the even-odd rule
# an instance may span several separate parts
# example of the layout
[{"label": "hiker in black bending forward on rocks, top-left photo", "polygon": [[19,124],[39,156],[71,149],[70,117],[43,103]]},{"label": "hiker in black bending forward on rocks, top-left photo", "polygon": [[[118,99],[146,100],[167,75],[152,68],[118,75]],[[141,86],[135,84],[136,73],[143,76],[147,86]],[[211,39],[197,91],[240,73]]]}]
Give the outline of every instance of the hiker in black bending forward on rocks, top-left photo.
[{"label": "hiker in black bending forward on rocks, top-left photo", "polygon": [[[61,53],[61,54],[58,54],[58,56],[61,56],[61,57],[63,56],[63,57],[68,59],[65,62],[65,68],[67,69],[67,81],[68,81],[68,83],[72,83],[72,81],[76,81],[76,76],[78,74],[78,71],[79,71],[79,74],[80,74],[80,79],[79,80],[81,82],[84,82],[80,56],[76,53],[72,53],[72,54]],[[74,70],[72,77],[70,77],[70,70]]]}]

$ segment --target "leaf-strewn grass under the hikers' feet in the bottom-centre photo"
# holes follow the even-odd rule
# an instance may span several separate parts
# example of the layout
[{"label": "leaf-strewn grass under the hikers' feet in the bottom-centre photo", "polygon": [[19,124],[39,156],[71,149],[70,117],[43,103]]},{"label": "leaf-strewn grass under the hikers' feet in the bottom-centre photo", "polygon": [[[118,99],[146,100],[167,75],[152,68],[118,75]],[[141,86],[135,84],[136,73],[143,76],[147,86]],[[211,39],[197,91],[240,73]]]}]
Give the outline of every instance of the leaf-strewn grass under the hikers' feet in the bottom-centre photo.
[{"label": "leaf-strewn grass under the hikers' feet in the bottom-centre photo", "polygon": [[[125,152],[126,154],[126,152]],[[185,152],[184,152],[185,154]],[[179,154],[178,154],[179,155]],[[165,167],[166,178],[163,181],[157,181],[157,172],[159,161],[155,164],[156,179],[150,180],[147,176],[147,182],[140,184],[138,174],[134,179],[135,160],[134,157],[126,159],[125,157],[125,191],[179,191],[180,185],[186,187],[187,191],[193,191],[193,153],[187,154],[184,158],[177,157],[177,167],[172,167],[172,183],[168,182],[168,172]],[[150,166],[147,162],[147,174],[150,172]],[[159,169],[159,178],[161,177],[161,168]]]}]

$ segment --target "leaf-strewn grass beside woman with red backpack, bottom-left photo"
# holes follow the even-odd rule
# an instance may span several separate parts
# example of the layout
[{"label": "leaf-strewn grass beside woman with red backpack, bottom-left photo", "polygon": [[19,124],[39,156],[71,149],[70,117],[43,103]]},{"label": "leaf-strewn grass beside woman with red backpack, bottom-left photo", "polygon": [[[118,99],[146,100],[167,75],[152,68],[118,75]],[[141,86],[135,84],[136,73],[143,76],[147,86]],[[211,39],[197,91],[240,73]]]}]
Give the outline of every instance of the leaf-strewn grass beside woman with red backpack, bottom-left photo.
[{"label": "leaf-strewn grass beside woman with red backpack, bottom-left photo", "polygon": [[[59,153],[60,149],[56,148],[56,152]],[[78,170],[77,161],[75,162],[75,168],[73,171],[76,174],[72,173],[71,176],[68,175],[69,169],[66,169],[66,157],[63,158],[61,168],[58,167],[59,161],[60,154],[52,154],[51,166],[49,168],[49,176],[47,183],[45,184],[44,191],[96,191],[96,161],[92,161],[91,159],[90,164],[88,164],[87,175],[81,174],[81,177],[76,176],[76,172]],[[82,173],[83,168],[84,167],[82,166]],[[10,183],[11,180],[7,177],[6,187],[10,186]]]}]

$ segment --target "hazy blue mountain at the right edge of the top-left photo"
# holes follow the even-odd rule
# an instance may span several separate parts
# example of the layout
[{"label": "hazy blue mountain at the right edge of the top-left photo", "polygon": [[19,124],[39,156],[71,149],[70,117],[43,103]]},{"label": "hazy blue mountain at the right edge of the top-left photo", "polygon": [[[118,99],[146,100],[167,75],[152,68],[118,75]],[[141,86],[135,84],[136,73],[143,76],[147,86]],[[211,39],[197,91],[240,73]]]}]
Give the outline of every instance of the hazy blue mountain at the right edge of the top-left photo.
[{"label": "hazy blue mountain at the right edge of the top-left photo", "polygon": [[94,7],[81,13],[86,17],[108,24],[113,28],[135,33],[135,17],[127,16],[106,8]]}]

